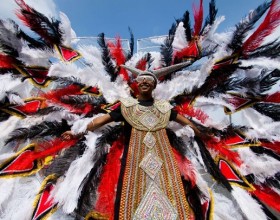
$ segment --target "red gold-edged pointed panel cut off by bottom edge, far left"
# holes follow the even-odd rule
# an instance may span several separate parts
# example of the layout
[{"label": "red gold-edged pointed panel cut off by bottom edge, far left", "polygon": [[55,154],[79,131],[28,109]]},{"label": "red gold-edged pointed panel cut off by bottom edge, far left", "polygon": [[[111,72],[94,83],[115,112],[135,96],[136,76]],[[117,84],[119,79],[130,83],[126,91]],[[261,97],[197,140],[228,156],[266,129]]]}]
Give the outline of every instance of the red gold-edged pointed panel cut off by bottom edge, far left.
[{"label": "red gold-edged pointed panel cut off by bottom edge, far left", "polygon": [[52,190],[53,190],[53,184],[49,183],[40,196],[32,220],[40,219],[40,217],[43,217],[49,210],[51,210],[56,205],[53,202],[53,198],[51,198]]}]

